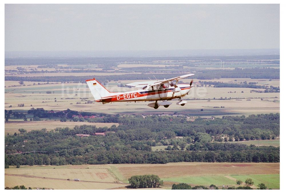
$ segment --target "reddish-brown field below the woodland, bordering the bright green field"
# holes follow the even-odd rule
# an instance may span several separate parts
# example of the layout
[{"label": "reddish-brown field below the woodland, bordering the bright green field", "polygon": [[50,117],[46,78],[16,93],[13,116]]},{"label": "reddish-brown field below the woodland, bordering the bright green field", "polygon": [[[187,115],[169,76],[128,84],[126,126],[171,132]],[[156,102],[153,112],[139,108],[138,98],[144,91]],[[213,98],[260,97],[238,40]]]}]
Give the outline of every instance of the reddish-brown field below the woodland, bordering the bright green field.
[{"label": "reddish-brown field below the woodland, bordering the bright green field", "polygon": [[178,162],[167,164],[117,164],[118,172],[124,179],[132,175],[155,174],[161,178],[208,176],[279,174],[280,163],[205,163]]}]

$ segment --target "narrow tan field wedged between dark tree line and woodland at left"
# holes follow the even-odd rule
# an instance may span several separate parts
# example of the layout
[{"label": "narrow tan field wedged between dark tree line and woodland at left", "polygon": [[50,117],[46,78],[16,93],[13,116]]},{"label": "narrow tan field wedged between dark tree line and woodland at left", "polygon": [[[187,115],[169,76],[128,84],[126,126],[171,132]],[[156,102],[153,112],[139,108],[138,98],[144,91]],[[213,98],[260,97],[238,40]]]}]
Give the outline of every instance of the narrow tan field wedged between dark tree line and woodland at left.
[{"label": "narrow tan field wedged between dark tree line and woodland at left", "polygon": [[70,127],[73,128],[76,125],[95,125],[96,127],[111,127],[112,125],[118,126],[118,123],[88,123],[88,122],[73,122],[66,121],[61,122],[59,120],[47,120],[47,121],[8,121],[5,122],[5,135],[7,133],[19,133],[18,129],[26,129],[27,131],[40,130],[46,128],[47,131],[55,129],[57,127]]}]

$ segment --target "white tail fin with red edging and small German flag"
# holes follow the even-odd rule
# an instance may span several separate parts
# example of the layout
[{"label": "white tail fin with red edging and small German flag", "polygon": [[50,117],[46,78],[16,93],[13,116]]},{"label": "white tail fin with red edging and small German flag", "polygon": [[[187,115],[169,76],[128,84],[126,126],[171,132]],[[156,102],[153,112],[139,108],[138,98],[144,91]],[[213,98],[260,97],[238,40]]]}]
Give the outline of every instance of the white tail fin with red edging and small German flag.
[{"label": "white tail fin with red edging and small German flag", "polygon": [[88,87],[95,100],[110,96],[110,92],[96,79],[88,79],[86,80],[86,83],[88,84]]}]

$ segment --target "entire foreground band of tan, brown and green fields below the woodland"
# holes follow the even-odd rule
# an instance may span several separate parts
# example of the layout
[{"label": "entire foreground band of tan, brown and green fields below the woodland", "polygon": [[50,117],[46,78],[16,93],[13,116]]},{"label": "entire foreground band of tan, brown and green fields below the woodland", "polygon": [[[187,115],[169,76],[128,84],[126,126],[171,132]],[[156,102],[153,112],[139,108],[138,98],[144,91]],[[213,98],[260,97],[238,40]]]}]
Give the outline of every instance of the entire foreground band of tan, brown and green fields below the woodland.
[{"label": "entire foreground band of tan, brown and green fields below the woodland", "polygon": [[[164,189],[170,189],[173,183],[189,183],[192,186],[216,184],[219,187],[222,185],[237,187],[236,179],[244,181],[246,178],[252,178],[255,181],[254,188],[258,183],[265,183],[268,188],[273,189],[280,187],[280,163],[198,162],[21,166],[19,169],[11,166],[9,169],[5,169],[5,187],[25,185],[26,187],[53,189],[122,189],[128,185],[128,178],[132,175],[144,174],[158,175],[165,181]],[[67,181],[65,180],[67,178],[78,178],[81,181]]]}]

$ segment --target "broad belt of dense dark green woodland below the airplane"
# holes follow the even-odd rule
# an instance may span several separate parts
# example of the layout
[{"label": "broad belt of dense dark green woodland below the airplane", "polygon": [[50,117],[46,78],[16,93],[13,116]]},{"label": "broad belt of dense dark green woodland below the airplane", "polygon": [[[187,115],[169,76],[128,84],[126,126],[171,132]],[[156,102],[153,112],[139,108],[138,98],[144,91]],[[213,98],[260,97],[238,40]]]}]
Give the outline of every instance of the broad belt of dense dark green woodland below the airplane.
[{"label": "broad belt of dense dark green woodland below the airplane", "polygon": [[[5,136],[5,166],[168,162],[279,162],[280,148],[272,146],[220,143],[275,139],[279,136],[280,115],[249,117],[224,116],[214,120],[186,116],[105,115],[103,122],[116,127],[81,125],[47,131],[19,130]],[[102,118],[100,118],[102,119]],[[91,123],[92,124],[92,123]],[[95,132],[108,132],[94,136]],[[78,137],[76,134],[89,134]],[[175,138],[182,136],[182,138]],[[25,141],[25,142],[24,142]],[[217,141],[217,143],[210,143]],[[152,151],[152,146],[170,145],[168,150]],[[185,151],[180,149],[186,148]],[[10,153],[41,151],[28,154]]]}]

